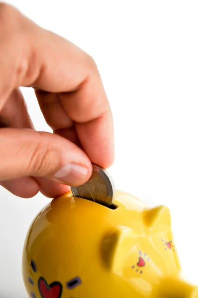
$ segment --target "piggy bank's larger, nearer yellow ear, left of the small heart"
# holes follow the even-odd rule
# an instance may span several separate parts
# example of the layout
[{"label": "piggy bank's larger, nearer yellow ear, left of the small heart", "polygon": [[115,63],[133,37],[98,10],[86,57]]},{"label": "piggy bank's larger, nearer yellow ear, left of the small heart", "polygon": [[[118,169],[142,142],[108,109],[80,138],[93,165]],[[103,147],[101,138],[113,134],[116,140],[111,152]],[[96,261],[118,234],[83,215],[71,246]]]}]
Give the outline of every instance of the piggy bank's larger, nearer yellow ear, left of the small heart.
[{"label": "piggy bank's larger, nearer yellow ear, left of the small heart", "polygon": [[130,253],[135,238],[136,234],[127,226],[109,230],[100,244],[103,265],[110,271],[118,269]]}]

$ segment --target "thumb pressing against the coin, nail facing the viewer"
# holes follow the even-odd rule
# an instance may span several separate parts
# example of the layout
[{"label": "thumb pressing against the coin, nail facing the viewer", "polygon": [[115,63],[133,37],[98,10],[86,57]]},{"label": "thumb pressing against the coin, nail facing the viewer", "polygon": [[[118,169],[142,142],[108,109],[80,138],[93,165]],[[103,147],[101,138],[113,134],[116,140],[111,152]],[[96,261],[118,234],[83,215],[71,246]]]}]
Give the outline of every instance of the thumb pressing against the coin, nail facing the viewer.
[{"label": "thumb pressing against the coin, nail facing the viewer", "polygon": [[0,181],[42,176],[77,186],[91,173],[86,153],[65,138],[29,129],[0,129]]}]

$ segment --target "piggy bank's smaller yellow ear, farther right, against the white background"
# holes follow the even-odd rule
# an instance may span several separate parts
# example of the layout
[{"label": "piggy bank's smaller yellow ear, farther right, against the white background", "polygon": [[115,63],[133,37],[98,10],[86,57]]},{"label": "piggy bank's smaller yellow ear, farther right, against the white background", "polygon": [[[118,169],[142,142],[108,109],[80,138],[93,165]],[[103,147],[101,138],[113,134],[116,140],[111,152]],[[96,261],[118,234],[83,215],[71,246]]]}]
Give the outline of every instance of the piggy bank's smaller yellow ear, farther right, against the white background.
[{"label": "piggy bank's smaller yellow ear, farther right, against the white background", "polygon": [[171,227],[170,210],[166,206],[157,206],[143,212],[145,225],[151,230]]}]

